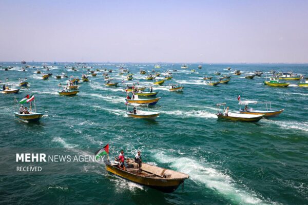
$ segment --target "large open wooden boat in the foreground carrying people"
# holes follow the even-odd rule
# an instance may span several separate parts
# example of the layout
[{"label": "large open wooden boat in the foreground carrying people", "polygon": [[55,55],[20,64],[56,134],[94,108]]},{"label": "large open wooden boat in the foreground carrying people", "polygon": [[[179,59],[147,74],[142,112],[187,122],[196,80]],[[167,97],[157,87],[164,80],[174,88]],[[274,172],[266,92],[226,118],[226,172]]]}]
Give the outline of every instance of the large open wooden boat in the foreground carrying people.
[{"label": "large open wooden boat in the foreground carrying people", "polygon": [[117,161],[104,160],[106,171],[124,179],[165,193],[174,192],[189,175],[142,162],[141,167],[132,159],[126,159],[127,168],[118,168]]}]

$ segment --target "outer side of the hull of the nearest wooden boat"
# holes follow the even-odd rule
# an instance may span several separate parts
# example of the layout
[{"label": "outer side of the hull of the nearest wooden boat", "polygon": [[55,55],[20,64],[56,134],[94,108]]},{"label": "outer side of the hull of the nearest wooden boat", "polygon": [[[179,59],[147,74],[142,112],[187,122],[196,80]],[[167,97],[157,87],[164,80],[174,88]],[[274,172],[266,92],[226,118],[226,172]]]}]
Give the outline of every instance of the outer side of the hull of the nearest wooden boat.
[{"label": "outer side of the hull of the nearest wooden boat", "polygon": [[105,162],[105,164],[106,171],[109,173],[165,193],[174,192],[184,181],[184,179],[157,179],[138,176],[114,167],[107,162]]}]

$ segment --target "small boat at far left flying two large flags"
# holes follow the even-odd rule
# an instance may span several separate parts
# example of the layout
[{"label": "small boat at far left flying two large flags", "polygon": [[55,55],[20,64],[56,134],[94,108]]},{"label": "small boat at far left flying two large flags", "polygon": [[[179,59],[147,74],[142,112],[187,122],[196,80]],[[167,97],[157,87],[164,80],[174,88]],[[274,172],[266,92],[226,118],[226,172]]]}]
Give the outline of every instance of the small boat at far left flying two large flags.
[{"label": "small boat at far left flying two large flags", "polygon": [[[34,103],[34,112],[32,112],[32,101]],[[43,113],[36,112],[36,105],[34,100],[34,95],[27,95],[24,99],[20,101],[20,104],[24,103],[30,103],[30,109],[28,114],[20,113],[20,112],[14,112],[14,115],[18,119],[26,120],[28,122],[38,121],[43,117]]]}]

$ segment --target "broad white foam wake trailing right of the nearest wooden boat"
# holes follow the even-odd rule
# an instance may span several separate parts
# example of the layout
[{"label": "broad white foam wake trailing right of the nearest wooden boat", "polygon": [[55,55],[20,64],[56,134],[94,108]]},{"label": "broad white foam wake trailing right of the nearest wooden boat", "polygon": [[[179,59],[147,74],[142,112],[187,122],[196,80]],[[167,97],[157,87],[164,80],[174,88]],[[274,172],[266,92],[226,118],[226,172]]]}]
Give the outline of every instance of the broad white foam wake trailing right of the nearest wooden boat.
[{"label": "broad white foam wake trailing right of the nearest wooden boat", "polygon": [[169,163],[170,167],[179,172],[189,175],[191,180],[196,183],[203,183],[207,188],[219,192],[225,198],[236,201],[240,204],[267,204],[256,193],[238,188],[235,181],[228,175],[221,173],[205,163],[188,157],[167,156],[164,152],[158,152],[154,155],[162,163]]}]

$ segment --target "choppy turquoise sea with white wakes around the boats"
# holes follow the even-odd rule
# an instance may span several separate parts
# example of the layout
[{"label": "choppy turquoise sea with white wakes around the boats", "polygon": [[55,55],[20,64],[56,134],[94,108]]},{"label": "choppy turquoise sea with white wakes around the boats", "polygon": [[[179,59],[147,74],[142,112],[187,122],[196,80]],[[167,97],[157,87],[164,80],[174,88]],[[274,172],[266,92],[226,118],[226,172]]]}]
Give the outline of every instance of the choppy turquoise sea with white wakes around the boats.
[{"label": "choppy turquoise sea with white wakes around the boats", "polygon": [[[38,68],[21,71],[20,63],[0,63],[13,66],[9,71],[0,68],[0,80],[27,77],[29,88],[20,94],[0,94],[0,148],[62,148],[83,150],[102,148],[109,143],[110,157],[124,149],[127,157],[142,151],[143,160],[189,174],[184,190],[179,187],[166,194],[115,177],[101,163],[82,167],[81,173],[60,175],[0,175],[1,204],[308,204],[308,88],[290,81],[287,88],[268,87],[265,75],[274,69],[308,75],[307,64],[162,64],[156,69],[173,72],[174,78],[163,86],[153,87],[161,97],[149,109],[161,112],[156,120],[128,118],[125,114],[126,96],[123,88],[106,87],[103,72],[81,83],[80,93],[73,97],[60,96],[55,79],[62,72],[69,76],[86,73],[65,66],[73,63],[47,64],[43,72],[52,73],[48,80],[36,74]],[[91,70],[112,69],[109,75],[122,81],[118,64],[88,63]],[[231,67],[232,70],[226,70]],[[139,74],[140,69],[151,71],[154,64],[129,64],[133,82],[150,85]],[[195,69],[196,72],[191,72]],[[242,75],[232,71],[241,70]],[[263,71],[252,80],[244,75]],[[204,74],[214,72],[231,76],[226,85],[207,86]],[[168,84],[182,84],[182,93],[168,91]],[[36,109],[44,116],[38,124],[14,118],[18,109],[14,97],[21,100],[34,94]],[[258,123],[218,120],[216,104],[227,103],[231,112],[238,112],[237,97],[272,101],[274,109],[285,109],[275,118]],[[257,104],[255,108],[264,108]],[[130,107],[130,109],[132,109]],[[83,171],[87,174],[83,174]]]}]

